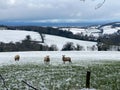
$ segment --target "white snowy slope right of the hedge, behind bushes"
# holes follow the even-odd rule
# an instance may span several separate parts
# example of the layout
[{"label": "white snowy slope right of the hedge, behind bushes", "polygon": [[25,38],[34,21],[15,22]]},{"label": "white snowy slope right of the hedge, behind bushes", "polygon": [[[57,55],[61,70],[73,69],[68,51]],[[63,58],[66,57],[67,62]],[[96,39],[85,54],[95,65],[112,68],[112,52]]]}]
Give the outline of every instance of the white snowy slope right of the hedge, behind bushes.
[{"label": "white snowy slope right of the hedge, behind bushes", "polygon": [[84,47],[84,49],[87,51],[87,47],[92,47],[93,45],[96,45],[96,42],[91,41],[82,41],[82,40],[75,40],[75,39],[69,39],[65,37],[59,37],[54,35],[46,35],[45,36],[45,43],[48,45],[55,44],[59,48],[59,50],[62,49],[63,45],[67,42],[73,42],[74,45],[79,44]]}]

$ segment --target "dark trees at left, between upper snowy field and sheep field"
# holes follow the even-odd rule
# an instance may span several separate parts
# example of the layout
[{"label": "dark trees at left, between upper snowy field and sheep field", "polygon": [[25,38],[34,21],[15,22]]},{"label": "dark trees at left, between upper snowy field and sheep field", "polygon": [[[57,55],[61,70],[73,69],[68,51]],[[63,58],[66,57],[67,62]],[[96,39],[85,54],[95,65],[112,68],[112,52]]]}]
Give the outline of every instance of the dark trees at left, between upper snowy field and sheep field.
[{"label": "dark trees at left, between upper snowy field and sheep field", "polygon": [[37,41],[32,41],[31,37],[28,35],[21,42],[10,42],[4,43],[0,42],[0,52],[9,51],[55,51],[57,48],[54,45],[48,46],[40,44]]}]

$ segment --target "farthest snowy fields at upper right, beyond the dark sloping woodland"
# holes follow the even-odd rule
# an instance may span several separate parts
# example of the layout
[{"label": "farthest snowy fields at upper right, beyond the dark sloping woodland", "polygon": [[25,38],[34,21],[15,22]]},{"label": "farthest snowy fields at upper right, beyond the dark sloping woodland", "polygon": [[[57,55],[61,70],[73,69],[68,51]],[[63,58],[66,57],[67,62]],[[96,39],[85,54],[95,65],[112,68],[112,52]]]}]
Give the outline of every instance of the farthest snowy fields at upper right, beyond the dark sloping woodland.
[{"label": "farthest snowy fields at upper right, beyond the dark sloping woodland", "polygon": [[89,27],[66,27],[60,28],[61,30],[71,31],[73,34],[83,33],[83,35],[93,35],[98,37],[102,34],[113,34],[120,30],[120,23],[110,23],[105,25],[96,25]]}]

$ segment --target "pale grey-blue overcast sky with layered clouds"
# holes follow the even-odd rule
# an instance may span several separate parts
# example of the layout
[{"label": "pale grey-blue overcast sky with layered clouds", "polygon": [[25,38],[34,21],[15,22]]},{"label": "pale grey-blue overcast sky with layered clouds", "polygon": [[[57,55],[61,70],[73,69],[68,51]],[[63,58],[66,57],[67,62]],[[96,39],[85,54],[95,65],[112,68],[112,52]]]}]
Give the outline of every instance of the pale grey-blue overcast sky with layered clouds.
[{"label": "pale grey-blue overcast sky with layered clouds", "polygon": [[120,20],[120,0],[0,0],[0,21],[80,22]]}]

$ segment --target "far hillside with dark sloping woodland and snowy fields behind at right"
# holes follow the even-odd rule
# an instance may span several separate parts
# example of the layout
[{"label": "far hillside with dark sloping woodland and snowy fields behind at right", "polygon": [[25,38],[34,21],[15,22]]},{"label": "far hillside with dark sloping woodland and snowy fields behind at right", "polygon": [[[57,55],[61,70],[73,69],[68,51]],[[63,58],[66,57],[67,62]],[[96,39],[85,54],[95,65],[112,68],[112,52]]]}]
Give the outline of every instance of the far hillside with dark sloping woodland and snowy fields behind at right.
[{"label": "far hillside with dark sloping woodland and snowy fields behind at right", "polygon": [[119,22],[90,26],[1,26],[11,30],[35,31],[39,34],[44,33],[85,41],[97,41],[101,35],[113,34],[120,30]]}]

